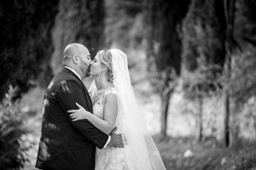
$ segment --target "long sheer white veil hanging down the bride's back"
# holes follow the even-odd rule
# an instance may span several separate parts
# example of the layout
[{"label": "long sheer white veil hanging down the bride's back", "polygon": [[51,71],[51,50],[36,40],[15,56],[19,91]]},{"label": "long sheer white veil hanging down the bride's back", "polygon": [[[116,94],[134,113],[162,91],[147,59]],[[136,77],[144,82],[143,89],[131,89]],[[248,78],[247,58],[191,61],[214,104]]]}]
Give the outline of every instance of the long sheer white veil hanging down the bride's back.
[{"label": "long sheer white veil hanging down the bride's back", "polygon": [[114,48],[109,51],[112,54],[113,84],[118,92],[119,130],[127,139],[125,155],[132,162],[133,169],[166,170],[137,105],[126,54]]}]

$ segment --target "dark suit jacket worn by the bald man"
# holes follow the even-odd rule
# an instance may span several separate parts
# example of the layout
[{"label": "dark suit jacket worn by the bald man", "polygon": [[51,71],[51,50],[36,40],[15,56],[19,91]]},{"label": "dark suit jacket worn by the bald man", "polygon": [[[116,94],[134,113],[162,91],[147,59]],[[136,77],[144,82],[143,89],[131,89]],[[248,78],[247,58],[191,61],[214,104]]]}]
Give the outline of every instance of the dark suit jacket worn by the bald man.
[{"label": "dark suit jacket worn by the bald man", "polygon": [[72,122],[68,110],[75,103],[92,112],[84,83],[67,68],[50,82],[44,94],[41,139],[36,167],[60,170],[94,170],[96,146],[103,148],[108,135],[87,120]]}]

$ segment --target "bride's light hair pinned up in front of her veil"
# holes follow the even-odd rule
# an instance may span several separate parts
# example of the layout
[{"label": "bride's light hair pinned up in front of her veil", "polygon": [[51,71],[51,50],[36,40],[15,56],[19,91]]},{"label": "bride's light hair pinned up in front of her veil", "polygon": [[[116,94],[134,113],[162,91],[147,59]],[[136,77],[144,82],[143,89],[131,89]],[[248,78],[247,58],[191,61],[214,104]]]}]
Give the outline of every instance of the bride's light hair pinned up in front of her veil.
[{"label": "bride's light hair pinned up in front of her veil", "polygon": [[[113,71],[112,71],[112,54],[109,50],[100,50],[97,54],[98,61],[101,62],[102,65],[107,67],[107,77],[109,82],[113,82]],[[100,72],[102,74],[102,71]]]}]

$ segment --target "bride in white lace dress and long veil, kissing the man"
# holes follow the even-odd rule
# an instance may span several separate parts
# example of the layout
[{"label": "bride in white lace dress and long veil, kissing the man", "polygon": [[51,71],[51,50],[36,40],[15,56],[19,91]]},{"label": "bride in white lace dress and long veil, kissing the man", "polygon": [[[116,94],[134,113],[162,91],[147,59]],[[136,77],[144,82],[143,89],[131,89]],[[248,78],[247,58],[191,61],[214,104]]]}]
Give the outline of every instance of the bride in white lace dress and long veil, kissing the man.
[{"label": "bride in white lace dress and long veil, kissing the man", "polygon": [[91,63],[90,76],[94,77],[89,92],[93,112],[71,110],[73,121],[87,119],[103,133],[113,127],[122,133],[127,144],[124,148],[96,150],[96,170],[165,170],[159,151],[143,122],[128,71],[126,54],[119,49],[101,50]]}]

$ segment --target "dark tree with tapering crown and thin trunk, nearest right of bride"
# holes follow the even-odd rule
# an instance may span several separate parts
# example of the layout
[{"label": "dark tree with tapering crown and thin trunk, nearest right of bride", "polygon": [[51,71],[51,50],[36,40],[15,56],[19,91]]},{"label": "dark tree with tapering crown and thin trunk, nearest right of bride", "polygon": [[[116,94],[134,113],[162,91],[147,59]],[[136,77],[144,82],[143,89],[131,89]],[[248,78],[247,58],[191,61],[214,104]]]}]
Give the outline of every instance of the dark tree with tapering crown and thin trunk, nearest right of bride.
[{"label": "dark tree with tapering crown and thin trunk, nearest right of bride", "polygon": [[179,32],[190,1],[156,1],[144,3],[147,32],[148,72],[161,99],[160,134],[166,137],[169,101],[180,74],[181,39]]}]

